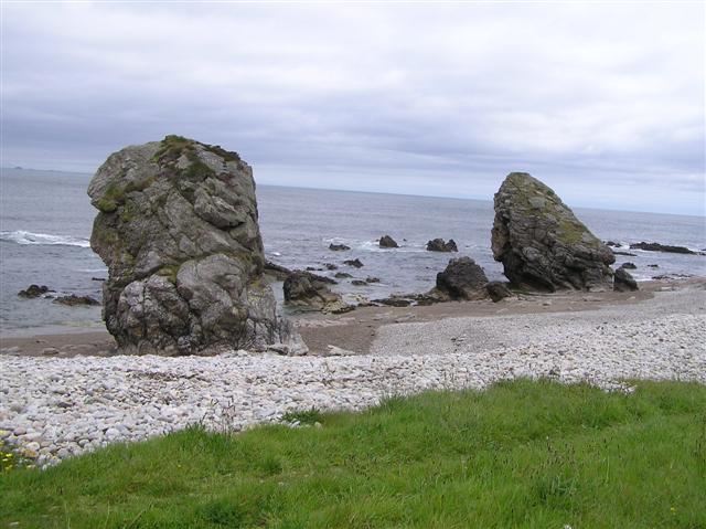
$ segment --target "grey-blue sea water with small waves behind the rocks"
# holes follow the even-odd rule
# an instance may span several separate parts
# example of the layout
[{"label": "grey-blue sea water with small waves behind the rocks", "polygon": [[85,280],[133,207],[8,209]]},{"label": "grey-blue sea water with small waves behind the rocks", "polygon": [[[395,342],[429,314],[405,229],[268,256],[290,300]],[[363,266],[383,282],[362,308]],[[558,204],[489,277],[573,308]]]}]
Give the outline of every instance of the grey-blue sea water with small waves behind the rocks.
[{"label": "grey-blue sea water with small waves behind the rocks", "polygon": [[[63,307],[50,299],[17,296],[35,283],[58,294],[100,298],[101,283],[96,279],[107,277],[107,268],[88,244],[96,214],[86,195],[89,180],[90,174],[83,173],[0,171],[0,335],[36,327],[101,326],[99,308]],[[490,279],[502,279],[502,266],[493,261],[490,250],[491,199],[257,188],[267,258],[290,268],[324,268],[324,264],[333,263],[353,278],[378,277],[379,283],[365,287],[353,286],[351,279],[341,279],[334,286],[349,297],[363,295],[371,299],[426,292],[449,258],[461,255],[475,260]],[[694,250],[706,247],[703,218],[580,208],[574,211],[602,240],[624,245],[656,241]],[[379,248],[377,239],[385,234],[402,247]],[[427,241],[435,237],[453,239],[459,253],[427,252]],[[351,250],[332,252],[330,243],[346,244]],[[706,276],[706,256],[623,250],[635,256],[617,256],[617,265],[633,262],[638,268],[631,273],[638,279],[657,274]],[[356,257],[364,263],[360,269],[342,264]],[[335,272],[318,273],[333,276]]]}]

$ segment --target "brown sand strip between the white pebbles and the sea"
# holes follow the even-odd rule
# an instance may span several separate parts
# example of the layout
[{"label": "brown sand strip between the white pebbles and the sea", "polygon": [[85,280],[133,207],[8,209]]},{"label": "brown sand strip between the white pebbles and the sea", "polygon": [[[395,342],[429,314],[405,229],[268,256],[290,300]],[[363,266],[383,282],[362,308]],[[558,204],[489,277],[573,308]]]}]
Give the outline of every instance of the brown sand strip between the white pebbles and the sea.
[{"label": "brown sand strip between the white pebbles and the sea", "polygon": [[[640,290],[630,293],[561,292],[527,294],[518,298],[451,301],[415,307],[360,307],[343,315],[300,313],[290,317],[310,349],[310,355],[366,355],[383,326],[400,322],[438,321],[445,318],[511,316],[524,314],[563,314],[593,310],[605,306],[639,304],[651,299],[655,292],[692,288],[706,284],[706,278],[651,281],[640,283]],[[0,336],[0,352],[4,355],[74,357],[77,355],[113,356],[116,343],[105,329],[67,327],[61,331],[24,330]]]}]

